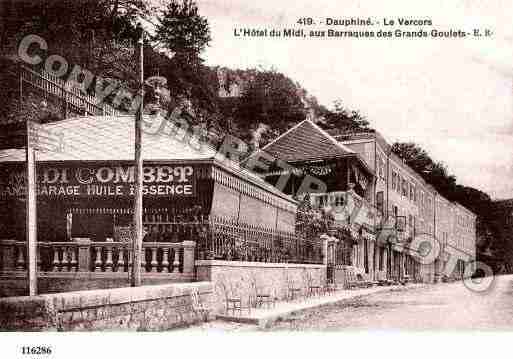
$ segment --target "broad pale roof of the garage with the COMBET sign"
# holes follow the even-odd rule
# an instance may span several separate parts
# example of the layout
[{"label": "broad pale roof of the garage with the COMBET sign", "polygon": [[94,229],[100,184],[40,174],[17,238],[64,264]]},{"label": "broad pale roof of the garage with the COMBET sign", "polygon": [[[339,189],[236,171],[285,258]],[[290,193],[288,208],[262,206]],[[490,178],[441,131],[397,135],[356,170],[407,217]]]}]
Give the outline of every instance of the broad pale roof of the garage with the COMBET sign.
[{"label": "broad pale roof of the garage with the COMBET sign", "polygon": [[[142,131],[142,157],[145,161],[212,161],[238,177],[252,182],[290,202],[290,196],[262,180],[256,174],[231,161],[223,161],[208,143],[201,146],[181,140],[184,132],[164,118],[144,116]],[[167,125],[162,125],[166,124]],[[146,126],[147,125],[147,126]],[[59,161],[133,161],[134,116],[83,116],[47,123],[42,126],[46,134],[62,134],[62,151],[37,152],[38,162]],[[0,163],[25,162],[24,149],[0,150]]]}]

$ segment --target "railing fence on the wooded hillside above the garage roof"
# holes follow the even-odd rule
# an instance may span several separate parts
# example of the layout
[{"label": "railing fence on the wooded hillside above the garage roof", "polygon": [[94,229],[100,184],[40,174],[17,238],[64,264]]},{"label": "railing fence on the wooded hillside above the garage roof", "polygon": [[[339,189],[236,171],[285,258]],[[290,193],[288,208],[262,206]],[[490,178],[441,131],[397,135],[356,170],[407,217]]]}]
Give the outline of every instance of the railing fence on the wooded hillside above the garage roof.
[{"label": "railing fence on the wooded hillside above the garage roof", "polygon": [[80,115],[116,116],[123,112],[116,110],[109,104],[99,101],[95,96],[83,93],[70,82],[50,75],[45,71],[37,72],[25,66],[19,68],[19,80],[22,94],[30,87],[44,98],[53,97],[62,105],[66,113]]}]

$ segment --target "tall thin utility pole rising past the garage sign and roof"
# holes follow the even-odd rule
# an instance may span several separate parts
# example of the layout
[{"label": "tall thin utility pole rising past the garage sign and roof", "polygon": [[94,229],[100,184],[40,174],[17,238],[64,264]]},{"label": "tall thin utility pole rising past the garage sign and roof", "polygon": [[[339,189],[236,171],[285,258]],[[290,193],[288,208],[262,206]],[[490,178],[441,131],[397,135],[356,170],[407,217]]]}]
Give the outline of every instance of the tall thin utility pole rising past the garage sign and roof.
[{"label": "tall thin utility pole rising past the garage sign and roof", "polygon": [[134,231],[133,231],[133,257],[131,286],[138,287],[141,285],[141,256],[145,255],[142,249],[143,237],[143,159],[142,159],[142,116],[143,116],[143,96],[144,96],[144,70],[143,70],[143,51],[144,51],[144,31],[139,24],[138,29],[138,78],[139,78],[139,108],[135,114],[135,198],[134,198]]}]

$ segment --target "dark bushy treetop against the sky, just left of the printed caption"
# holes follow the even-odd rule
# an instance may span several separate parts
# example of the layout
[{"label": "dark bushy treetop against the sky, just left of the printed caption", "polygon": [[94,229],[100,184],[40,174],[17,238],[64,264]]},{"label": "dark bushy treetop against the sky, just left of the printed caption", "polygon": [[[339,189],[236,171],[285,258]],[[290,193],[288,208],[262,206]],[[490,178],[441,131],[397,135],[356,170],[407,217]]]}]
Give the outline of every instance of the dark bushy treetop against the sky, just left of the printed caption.
[{"label": "dark bushy treetop against the sky, just left of the printed caption", "polygon": [[159,17],[154,39],[188,60],[197,59],[211,41],[210,27],[194,0],[171,0]]}]

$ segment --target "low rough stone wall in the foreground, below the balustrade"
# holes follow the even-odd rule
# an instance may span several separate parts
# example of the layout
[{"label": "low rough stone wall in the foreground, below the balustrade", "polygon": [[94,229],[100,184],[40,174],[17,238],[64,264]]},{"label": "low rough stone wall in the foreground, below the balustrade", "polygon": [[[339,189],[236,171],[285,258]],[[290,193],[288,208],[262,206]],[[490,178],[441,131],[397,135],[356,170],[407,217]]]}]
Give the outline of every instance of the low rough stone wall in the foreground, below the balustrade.
[{"label": "low rough stone wall in the foreground, below the balustrade", "polygon": [[[212,305],[210,283],[180,283],[0,299],[0,331],[167,330],[205,318],[192,305],[197,290]],[[211,318],[211,317],[210,317]]]}]

